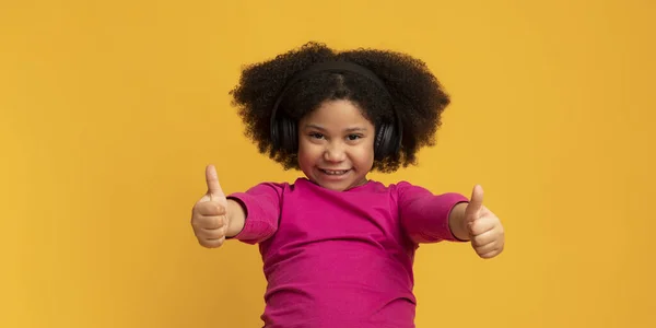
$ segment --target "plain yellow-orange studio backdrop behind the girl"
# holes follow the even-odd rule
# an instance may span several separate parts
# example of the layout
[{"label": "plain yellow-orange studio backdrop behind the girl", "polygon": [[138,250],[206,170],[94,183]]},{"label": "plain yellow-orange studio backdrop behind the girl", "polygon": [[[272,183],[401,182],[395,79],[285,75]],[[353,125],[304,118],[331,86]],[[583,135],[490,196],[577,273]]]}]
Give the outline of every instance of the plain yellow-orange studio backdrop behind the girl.
[{"label": "plain yellow-orange studio backdrop behind the girl", "polygon": [[0,327],[260,327],[258,249],[199,246],[223,188],[292,180],[227,92],[308,40],[422,58],[453,96],[393,175],[485,190],[506,249],[422,246],[418,327],[656,327],[648,1],[3,1]]}]

